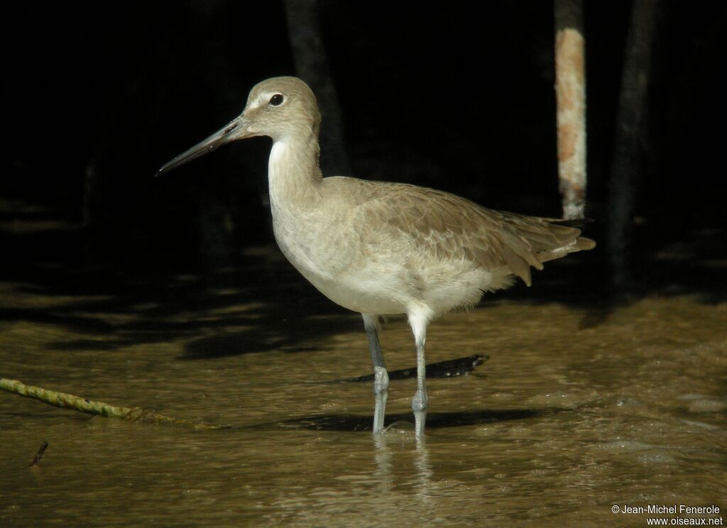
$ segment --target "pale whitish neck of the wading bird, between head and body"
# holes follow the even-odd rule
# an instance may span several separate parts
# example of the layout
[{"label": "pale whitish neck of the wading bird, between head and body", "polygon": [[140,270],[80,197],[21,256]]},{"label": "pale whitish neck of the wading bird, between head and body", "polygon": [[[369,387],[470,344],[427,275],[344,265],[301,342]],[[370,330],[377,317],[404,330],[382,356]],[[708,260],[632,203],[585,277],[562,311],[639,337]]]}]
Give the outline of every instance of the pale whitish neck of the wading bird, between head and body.
[{"label": "pale whitish neck of the wading bird, between head and body", "polygon": [[289,134],[275,139],[268,161],[268,185],[273,215],[277,208],[315,206],[320,198],[316,134]]}]

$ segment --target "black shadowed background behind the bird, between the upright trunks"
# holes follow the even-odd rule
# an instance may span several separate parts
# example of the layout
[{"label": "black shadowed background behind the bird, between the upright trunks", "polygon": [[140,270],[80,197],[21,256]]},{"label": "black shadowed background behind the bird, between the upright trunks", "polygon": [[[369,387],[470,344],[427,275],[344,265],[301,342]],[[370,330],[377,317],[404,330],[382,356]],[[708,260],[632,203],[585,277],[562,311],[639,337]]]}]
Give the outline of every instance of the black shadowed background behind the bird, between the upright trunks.
[{"label": "black shadowed background behind the bird, between the upright trunks", "polygon": [[[153,175],[238,115],[258,81],[296,74],[283,4],[12,4],[1,37],[7,278],[217,267],[272,243],[269,139]],[[657,5],[630,288],[715,294],[727,261],[727,5]],[[352,175],[560,216],[552,4],[320,6]],[[600,292],[611,291],[603,240],[631,12],[629,1],[585,12],[588,235],[599,245],[579,269]],[[324,174],[339,173],[325,148]]]}]

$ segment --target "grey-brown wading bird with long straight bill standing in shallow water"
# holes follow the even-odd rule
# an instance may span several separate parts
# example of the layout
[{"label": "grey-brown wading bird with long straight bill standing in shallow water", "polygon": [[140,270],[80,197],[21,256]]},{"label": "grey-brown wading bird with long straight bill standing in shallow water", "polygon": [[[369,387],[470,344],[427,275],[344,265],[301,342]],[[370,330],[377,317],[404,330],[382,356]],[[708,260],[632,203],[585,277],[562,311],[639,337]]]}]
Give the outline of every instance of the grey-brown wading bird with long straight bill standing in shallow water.
[{"label": "grey-brown wading bird with long straight bill standing in shallow water", "polygon": [[483,208],[447,192],[409,184],[322,177],[316,96],[295,77],[254,86],[225,128],[162,166],[158,174],[254,136],[273,139],[268,162],[276,241],[318,291],[360,312],[374,362],[374,434],[382,432],[389,378],[379,316],[406,314],[417,347],[415,436],[427,416],[427,324],[478,303],[486,291],[530,285],[530,267],[590,249],[593,240],[556,219]]}]

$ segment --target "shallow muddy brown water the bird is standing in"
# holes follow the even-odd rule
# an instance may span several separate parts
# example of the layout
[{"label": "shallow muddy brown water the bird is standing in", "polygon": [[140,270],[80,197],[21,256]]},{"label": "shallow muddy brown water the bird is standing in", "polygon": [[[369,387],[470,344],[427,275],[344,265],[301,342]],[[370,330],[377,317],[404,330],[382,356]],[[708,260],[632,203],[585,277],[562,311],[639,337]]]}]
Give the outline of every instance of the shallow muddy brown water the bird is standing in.
[{"label": "shallow muddy brown water the bird is standing in", "polygon": [[[0,375],[232,426],[129,423],[0,392],[1,526],[724,517],[727,304],[652,296],[594,315],[587,304],[498,300],[435,322],[427,362],[491,359],[428,381],[417,446],[406,423],[414,380],[391,383],[387,423],[398,423],[378,439],[369,384],[317,383],[370,373],[356,315],[318,313],[327,301],[300,282],[284,302],[196,281],[172,277],[164,295],[145,284],[123,295],[0,284]],[[403,320],[385,325],[382,347],[390,370],[414,365]],[[44,458],[28,467],[44,441]],[[622,513],[626,505],[721,511]]]}]

